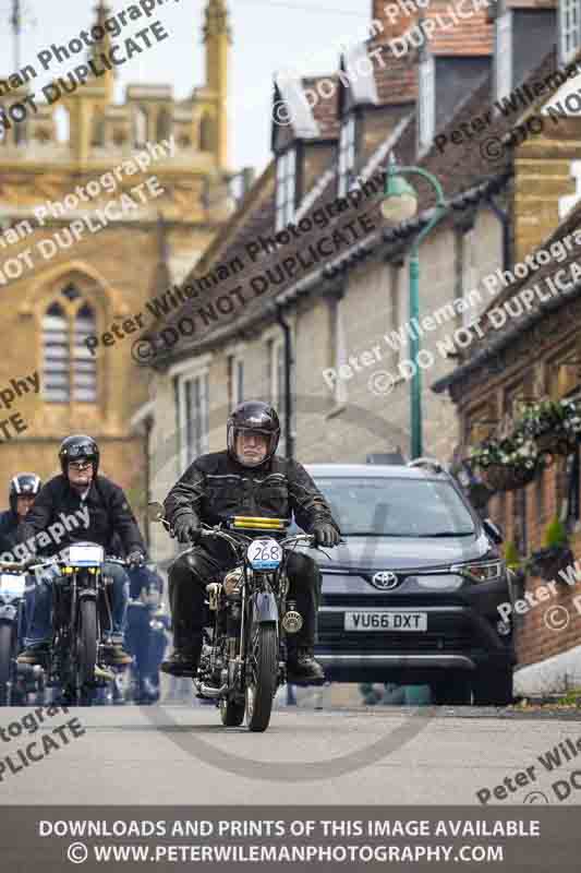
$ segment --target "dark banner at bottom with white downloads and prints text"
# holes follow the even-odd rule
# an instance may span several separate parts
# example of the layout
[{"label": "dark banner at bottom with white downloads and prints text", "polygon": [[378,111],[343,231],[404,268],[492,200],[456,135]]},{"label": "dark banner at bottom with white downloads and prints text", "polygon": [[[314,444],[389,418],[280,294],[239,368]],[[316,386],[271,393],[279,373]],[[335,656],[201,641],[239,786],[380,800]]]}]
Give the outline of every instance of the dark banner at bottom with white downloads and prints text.
[{"label": "dark banner at bottom with white downloads and prints text", "polygon": [[577,873],[580,850],[578,806],[0,808],[0,858],[10,873]]}]

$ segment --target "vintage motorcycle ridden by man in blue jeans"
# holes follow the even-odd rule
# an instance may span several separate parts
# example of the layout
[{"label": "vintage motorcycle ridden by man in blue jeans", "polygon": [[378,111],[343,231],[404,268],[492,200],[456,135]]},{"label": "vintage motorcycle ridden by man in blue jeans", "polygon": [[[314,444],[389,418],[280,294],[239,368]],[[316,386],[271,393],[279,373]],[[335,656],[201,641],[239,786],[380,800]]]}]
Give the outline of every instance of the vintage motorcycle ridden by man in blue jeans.
[{"label": "vintage motorcycle ridden by man in blue jeans", "polygon": [[102,619],[112,625],[110,585],[104,578],[105,561],[124,565],[119,558],[105,557],[101,546],[76,542],[60,555],[22,564],[0,564],[0,572],[26,570],[53,588],[52,641],[41,657],[47,686],[62,689],[62,702],[90,705],[95,692],[114,680],[107,666],[101,630]]}]

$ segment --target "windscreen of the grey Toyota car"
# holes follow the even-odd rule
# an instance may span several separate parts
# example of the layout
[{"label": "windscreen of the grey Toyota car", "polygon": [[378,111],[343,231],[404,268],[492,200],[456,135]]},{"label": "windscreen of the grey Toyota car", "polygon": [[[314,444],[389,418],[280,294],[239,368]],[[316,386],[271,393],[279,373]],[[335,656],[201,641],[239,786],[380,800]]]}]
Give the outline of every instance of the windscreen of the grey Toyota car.
[{"label": "windscreen of the grey Toyota car", "polygon": [[446,481],[387,477],[316,478],[346,536],[453,537],[474,522]]}]

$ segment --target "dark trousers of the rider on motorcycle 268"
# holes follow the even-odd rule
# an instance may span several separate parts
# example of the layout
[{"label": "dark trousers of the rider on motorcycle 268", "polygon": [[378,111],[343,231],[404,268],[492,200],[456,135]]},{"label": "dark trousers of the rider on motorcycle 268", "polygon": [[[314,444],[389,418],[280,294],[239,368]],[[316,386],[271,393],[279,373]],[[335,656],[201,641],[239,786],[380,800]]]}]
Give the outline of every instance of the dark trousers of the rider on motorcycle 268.
[{"label": "dark trousers of the rider on motorcycle 268", "polygon": [[[205,621],[206,585],[221,579],[223,573],[235,563],[228,554],[210,554],[198,547],[172,565],[169,572],[169,602],[175,648],[198,657]],[[302,629],[298,634],[289,635],[287,643],[289,648],[293,645],[312,647],[315,644],[316,614],[320,602],[320,571],[308,555],[292,552],[287,562],[287,573],[290,583],[287,599],[294,598],[296,609],[303,617]]]}]

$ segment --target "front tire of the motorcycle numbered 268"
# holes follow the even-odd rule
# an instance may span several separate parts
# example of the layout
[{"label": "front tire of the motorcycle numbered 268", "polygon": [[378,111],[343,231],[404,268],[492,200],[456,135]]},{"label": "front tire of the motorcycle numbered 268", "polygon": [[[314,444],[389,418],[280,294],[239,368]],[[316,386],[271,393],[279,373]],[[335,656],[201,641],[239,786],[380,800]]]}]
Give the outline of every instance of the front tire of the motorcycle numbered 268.
[{"label": "front tire of the motorcycle numbered 268", "polygon": [[246,683],[246,723],[251,731],[265,731],[270,721],[278,680],[278,634],[275,624],[253,627],[249,659],[254,662]]}]

